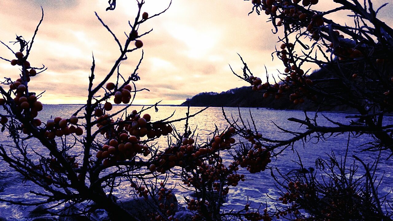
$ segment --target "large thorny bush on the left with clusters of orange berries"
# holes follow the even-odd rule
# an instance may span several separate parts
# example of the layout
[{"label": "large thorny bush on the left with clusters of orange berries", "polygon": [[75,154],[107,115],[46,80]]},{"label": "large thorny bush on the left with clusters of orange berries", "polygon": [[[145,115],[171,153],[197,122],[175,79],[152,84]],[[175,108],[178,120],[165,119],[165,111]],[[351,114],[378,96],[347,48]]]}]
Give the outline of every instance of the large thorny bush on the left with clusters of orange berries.
[{"label": "large thorny bush on the left with clusters of orange berries", "polygon": [[[220,157],[235,146],[233,136],[238,132],[233,127],[224,131],[213,127],[211,138],[200,142],[196,140],[195,131],[188,126],[188,119],[199,112],[191,114],[188,111],[185,118],[171,120],[172,116],[169,116],[152,122],[151,116],[143,111],[157,109],[157,104],[140,111],[128,110],[136,94],[145,90],[137,89],[134,83],[140,79],[138,68],[143,51],[130,76],[123,76],[119,65],[127,59],[127,54],[143,47],[141,39],[150,31],[138,33],[139,27],[169,8],[149,15],[142,11],[144,3],[143,0],[137,1],[138,14],[133,22],[129,22],[130,30],[123,43],[96,14],[118,44],[119,55],[108,74],[97,84],[93,83],[96,77],[93,56],[86,104],[69,118],[55,117],[46,122],[46,119],[37,118],[38,112],[45,111],[39,101],[44,95],[29,88],[34,77],[46,70],[45,66],[38,68],[28,62],[44,11],[30,41],[17,36],[12,42],[19,46],[17,51],[2,42],[15,59],[1,59],[19,67],[20,78],[6,78],[0,87],[3,96],[0,105],[5,110],[0,115],[2,133],[8,133],[10,142],[13,142],[13,145],[0,145],[0,157],[39,187],[30,192],[45,200],[1,201],[46,205],[48,212],[61,216],[89,216],[97,209],[105,209],[111,220],[173,220],[178,201],[173,197],[171,187],[166,185],[171,174],[182,180],[191,193],[195,192],[195,197],[185,199],[189,210],[193,211],[190,214],[193,219],[219,220],[245,215],[244,210],[233,214],[220,213],[222,199],[229,187],[244,181],[244,175],[236,172],[238,165],[224,164]],[[107,10],[115,9],[116,1],[109,1],[109,4]],[[111,78],[116,78],[116,82],[111,82]],[[115,104],[126,105],[115,111],[111,98]],[[184,132],[171,125],[177,121],[185,121]],[[168,147],[159,149],[154,140],[168,134],[171,134]],[[33,141],[38,141],[39,146],[31,147],[29,143]],[[112,194],[120,183],[130,185],[130,195],[138,198],[138,202],[145,199],[149,203],[126,208]],[[59,210],[51,210],[55,207]]]}]

